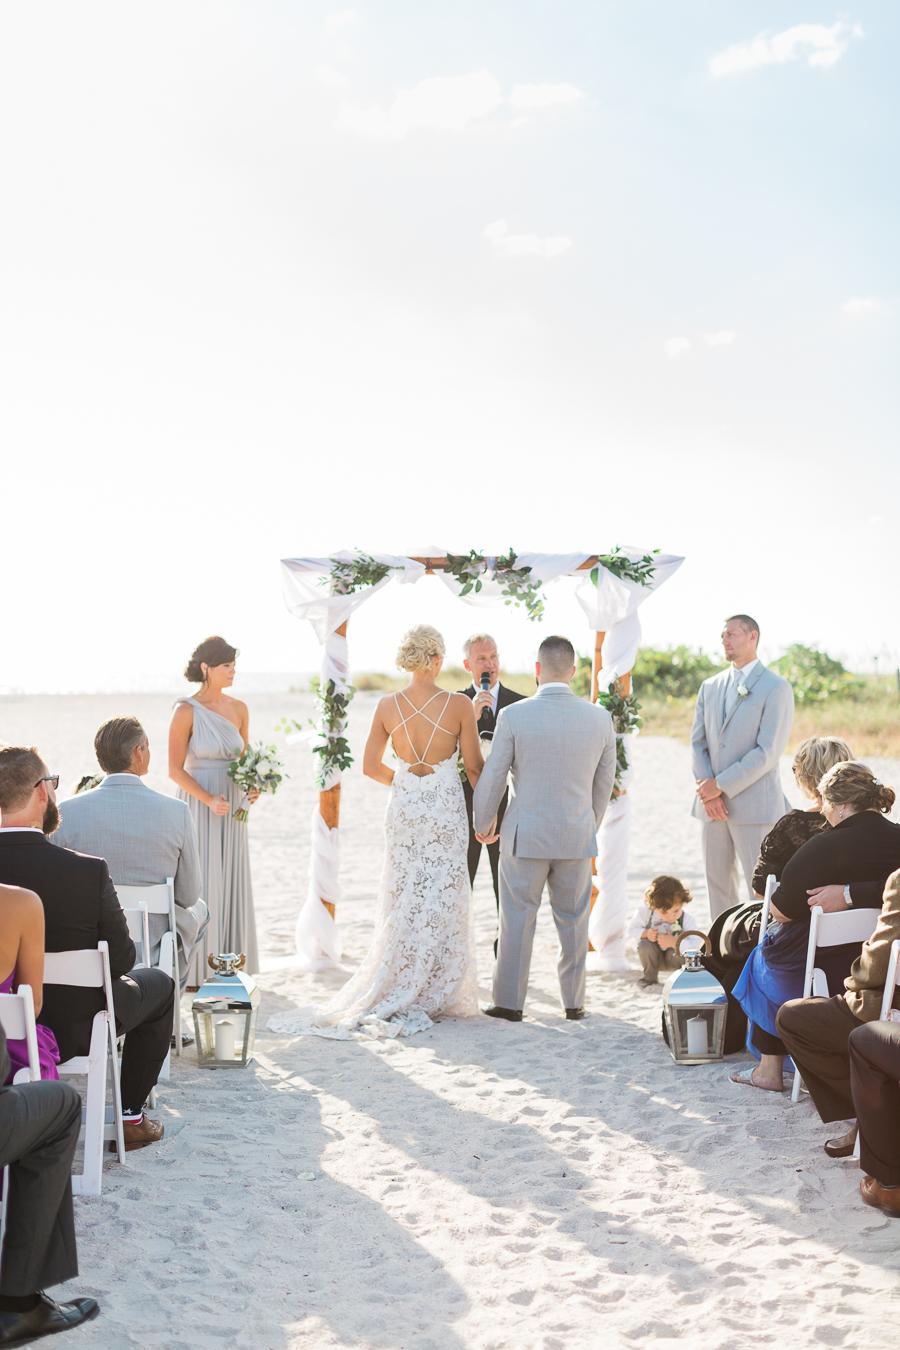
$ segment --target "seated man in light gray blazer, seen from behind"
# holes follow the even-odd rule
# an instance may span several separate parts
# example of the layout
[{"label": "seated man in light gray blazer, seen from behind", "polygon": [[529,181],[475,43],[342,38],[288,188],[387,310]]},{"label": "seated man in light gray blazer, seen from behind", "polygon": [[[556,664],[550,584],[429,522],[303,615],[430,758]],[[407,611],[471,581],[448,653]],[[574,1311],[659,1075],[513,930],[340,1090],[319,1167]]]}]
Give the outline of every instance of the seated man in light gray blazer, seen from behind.
[{"label": "seated man in light gray blazer, seen from behind", "polygon": [[[158,886],[175,879],[175,925],[182,988],[190,956],[206,930],[209,910],[200,899],[200,855],[188,803],[140,782],[150,768],[150,742],[136,717],[113,717],[94,737],[105,778],[99,787],[59,803],[54,844],[104,857],[116,886]],[[151,957],[166,932],[162,914],[150,915]]]}]

